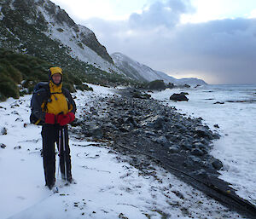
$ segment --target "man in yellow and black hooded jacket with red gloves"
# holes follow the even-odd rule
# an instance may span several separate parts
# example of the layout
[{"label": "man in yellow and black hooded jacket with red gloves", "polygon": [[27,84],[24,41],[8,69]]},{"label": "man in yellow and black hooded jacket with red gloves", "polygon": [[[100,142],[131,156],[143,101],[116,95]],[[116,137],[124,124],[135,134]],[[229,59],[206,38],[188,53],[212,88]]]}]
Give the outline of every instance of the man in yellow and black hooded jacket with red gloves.
[{"label": "man in yellow and black hooded jacket with red gloves", "polygon": [[73,182],[67,124],[75,118],[76,105],[67,89],[62,88],[60,67],[49,68],[49,83],[32,96],[32,113],[43,122],[43,163],[45,185],[55,185],[55,142],[59,150],[61,177]]}]

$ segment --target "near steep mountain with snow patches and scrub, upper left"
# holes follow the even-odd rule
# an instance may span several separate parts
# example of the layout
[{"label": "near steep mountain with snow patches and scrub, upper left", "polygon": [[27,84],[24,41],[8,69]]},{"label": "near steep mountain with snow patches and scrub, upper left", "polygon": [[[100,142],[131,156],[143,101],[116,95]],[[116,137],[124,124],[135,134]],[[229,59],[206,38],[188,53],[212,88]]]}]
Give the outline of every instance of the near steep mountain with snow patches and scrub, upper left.
[{"label": "near steep mountain with snow patches and scrub, upper left", "polygon": [[[94,32],[77,25],[49,0],[1,0],[0,47],[34,55],[56,66],[78,61],[102,71],[122,74]],[[92,70],[94,71],[94,70]]]}]

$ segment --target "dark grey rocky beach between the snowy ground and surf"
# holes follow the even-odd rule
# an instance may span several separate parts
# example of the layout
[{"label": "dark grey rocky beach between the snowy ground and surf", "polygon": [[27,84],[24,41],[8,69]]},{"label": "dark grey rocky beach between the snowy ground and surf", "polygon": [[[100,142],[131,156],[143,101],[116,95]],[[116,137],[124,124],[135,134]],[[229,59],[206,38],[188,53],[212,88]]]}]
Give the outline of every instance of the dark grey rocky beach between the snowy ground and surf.
[{"label": "dark grey rocky beach between the snowy ground and surf", "polygon": [[210,151],[219,135],[202,118],[187,117],[136,89],[120,89],[116,95],[84,103],[84,116],[75,125],[74,134],[106,142],[140,170],[147,172],[156,161],[230,210],[256,215],[253,205],[218,178],[223,164]]}]

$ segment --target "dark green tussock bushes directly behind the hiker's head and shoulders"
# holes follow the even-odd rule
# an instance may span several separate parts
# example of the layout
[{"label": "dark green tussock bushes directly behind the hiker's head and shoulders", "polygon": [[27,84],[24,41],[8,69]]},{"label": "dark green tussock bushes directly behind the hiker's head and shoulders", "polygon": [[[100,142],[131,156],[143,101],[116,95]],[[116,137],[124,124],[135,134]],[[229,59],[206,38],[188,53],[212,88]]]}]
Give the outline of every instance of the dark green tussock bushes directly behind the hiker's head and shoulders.
[{"label": "dark green tussock bushes directly behind the hiker's head and shoulders", "polygon": [[[31,55],[16,54],[0,48],[0,101],[31,94],[35,84],[48,81],[50,66],[48,62]],[[65,72],[63,84],[72,92],[75,90],[74,84],[84,89],[82,80],[72,72]]]}]

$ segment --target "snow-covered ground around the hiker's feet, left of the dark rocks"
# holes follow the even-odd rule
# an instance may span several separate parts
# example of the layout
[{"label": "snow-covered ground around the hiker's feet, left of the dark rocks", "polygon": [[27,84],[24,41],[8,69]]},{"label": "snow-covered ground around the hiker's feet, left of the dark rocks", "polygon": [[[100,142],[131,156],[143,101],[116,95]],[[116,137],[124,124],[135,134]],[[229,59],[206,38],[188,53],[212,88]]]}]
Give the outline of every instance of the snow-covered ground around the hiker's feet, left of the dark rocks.
[{"label": "snow-covered ground around the hiker's feet, left of the dark rocks", "polygon": [[[98,96],[113,95],[113,89],[90,86],[93,92],[73,94],[78,117],[85,104],[92,104]],[[0,102],[1,219],[241,217],[157,164],[152,163],[151,174],[144,175],[128,163],[129,158],[120,157],[103,143],[79,141],[73,135],[70,147],[77,184],[60,187],[59,193],[49,191],[44,187],[40,156],[41,127],[29,124],[30,99],[26,95]],[[58,171],[56,181],[63,184]]]}]

